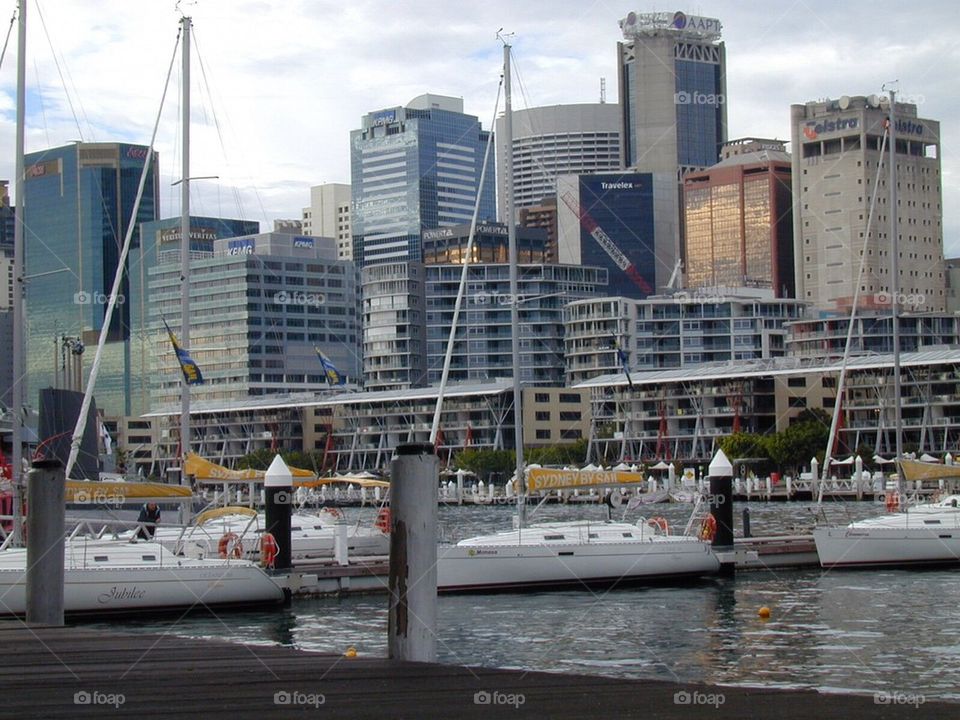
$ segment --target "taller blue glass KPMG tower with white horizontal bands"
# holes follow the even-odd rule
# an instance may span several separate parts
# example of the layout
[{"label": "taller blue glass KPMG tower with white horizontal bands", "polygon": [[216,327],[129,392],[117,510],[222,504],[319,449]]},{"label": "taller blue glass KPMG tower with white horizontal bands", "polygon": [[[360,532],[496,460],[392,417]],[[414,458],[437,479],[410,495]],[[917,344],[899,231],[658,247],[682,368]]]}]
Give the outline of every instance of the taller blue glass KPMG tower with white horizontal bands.
[{"label": "taller blue glass KPMG tower with white horizontal bands", "polygon": [[[353,259],[363,267],[417,262],[420,233],[496,218],[494,173],[480,173],[490,133],[463,100],[420,95],[372,112],[350,133]],[[492,164],[492,161],[491,161]]]}]

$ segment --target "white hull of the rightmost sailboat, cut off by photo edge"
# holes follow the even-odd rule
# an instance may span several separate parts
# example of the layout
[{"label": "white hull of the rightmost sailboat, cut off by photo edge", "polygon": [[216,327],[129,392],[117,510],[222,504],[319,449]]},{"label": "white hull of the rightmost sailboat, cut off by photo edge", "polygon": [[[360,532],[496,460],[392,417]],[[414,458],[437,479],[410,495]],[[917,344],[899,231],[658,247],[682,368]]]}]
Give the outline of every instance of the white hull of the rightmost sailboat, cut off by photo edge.
[{"label": "white hull of the rightmost sailboat, cut off by photo edge", "polygon": [[960,564],[960,528],[823,527],[813,538],[822,567]]}]

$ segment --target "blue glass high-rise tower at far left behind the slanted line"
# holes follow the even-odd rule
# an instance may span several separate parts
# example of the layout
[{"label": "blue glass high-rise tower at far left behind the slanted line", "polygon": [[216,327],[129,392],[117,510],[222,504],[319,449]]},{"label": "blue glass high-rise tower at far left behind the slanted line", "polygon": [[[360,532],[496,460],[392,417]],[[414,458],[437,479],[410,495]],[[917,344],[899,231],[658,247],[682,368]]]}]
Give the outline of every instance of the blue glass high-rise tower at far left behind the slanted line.
[{"label": "blue glass high-rise tower at far left behind the slanted line", "polygon": [[[90,360],[131,223],[156,218],[158,158],[148,170],[136,217],[133,206],[147,148],[125,143],[74,143],[25,158],[24,239],[27,402],[56,383],[64,336],[88,348]],[[139,239],[134,235],[134,243]],[[97,406],[130,414],[129,283],[124,278],[108,330]],[[72,345],[75,349],[76,345]]]}]

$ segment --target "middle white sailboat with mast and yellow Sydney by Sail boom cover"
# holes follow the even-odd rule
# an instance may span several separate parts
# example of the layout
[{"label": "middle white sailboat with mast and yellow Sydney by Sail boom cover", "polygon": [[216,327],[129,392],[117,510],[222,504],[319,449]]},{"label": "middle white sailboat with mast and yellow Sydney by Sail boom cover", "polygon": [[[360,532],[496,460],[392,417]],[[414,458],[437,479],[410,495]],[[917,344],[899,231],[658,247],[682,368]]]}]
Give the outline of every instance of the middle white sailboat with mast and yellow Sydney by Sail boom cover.
[{"label": "middle white sailboat with mast and yellow Sydney by Sail boom cover", "polygon": [[[513,297],[517,297],[516,226],[513,221],[511,176],[513,143],[510,45],[506,42],[503,77],[510,292]],[[440,546],[437,556],[438,591],[616,586],[717,572],[720,563],[707,540],[686,535],[670,535],[665,522],[653,525],[645,521],[631,524],[612,520],[526,524],[527,493],[539,489],[622,487],[632,482],[643,482],[643,477],[639,473],[618,471],[567,471],[524,467],[518,314],[517,303],[512,303],[516,478],[520,488],[517,526],[513,530],[461,540],[456,545]]]}]

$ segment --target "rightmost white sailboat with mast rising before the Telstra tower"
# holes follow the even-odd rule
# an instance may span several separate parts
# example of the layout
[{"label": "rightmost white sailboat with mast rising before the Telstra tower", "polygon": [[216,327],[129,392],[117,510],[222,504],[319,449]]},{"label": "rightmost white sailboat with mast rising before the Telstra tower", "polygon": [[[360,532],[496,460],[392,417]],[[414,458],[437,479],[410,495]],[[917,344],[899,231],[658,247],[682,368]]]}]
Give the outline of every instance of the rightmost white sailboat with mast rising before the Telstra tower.
[{"label": "rightmost white sailboat with mast rising before the Telstra tower", "polygon": [[[889,142],[890,183],[890,237],[893,243],[891,256],[891,299],[893,332],[893,380],[896,416],[896,461],[898,489],[887,495],[884,515],[849,523],[845,526],[821,526],[814,528],[813,537],[820,558],[820,565],[829,568],[856,568],[881,566],[915,566],[960,563],[960,496],[951,495],[933,503],[907,507],[904,498],[904,480],[908,476],[919,479],[956,477],[957,468],[950,466],[930,467],[930,463],[918,463],[903,457],[902,420],[900,413],[900,338],[899,338],[899,270],[897,250],[897,159],[896,142],[896,94],[890,93],[890,115],[887,122]],[[879,168],[878,168],[879,173]],[[878,187],[879,183],[875,185]],[[853,323],[851,323],[852,328]],[[838,386],[838,404],[843,392]],[[836,414],[832,432],[836,429]],[[832,434],[831,434],[832,441]],[[826,465],[826,463],[825,463]]]}]

